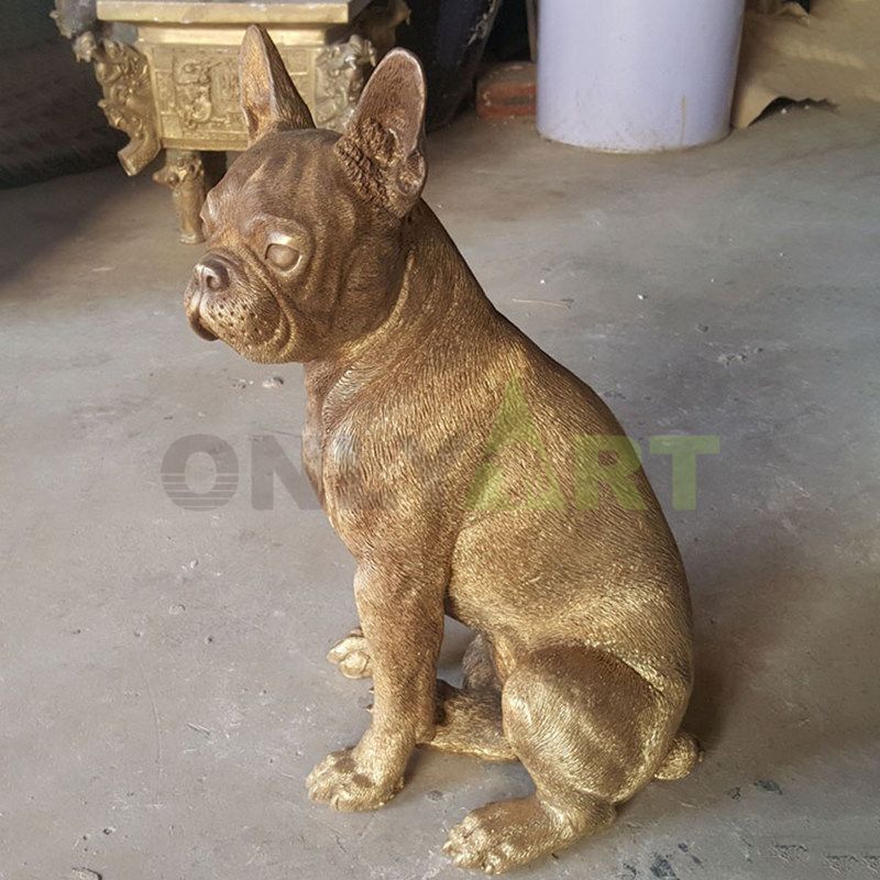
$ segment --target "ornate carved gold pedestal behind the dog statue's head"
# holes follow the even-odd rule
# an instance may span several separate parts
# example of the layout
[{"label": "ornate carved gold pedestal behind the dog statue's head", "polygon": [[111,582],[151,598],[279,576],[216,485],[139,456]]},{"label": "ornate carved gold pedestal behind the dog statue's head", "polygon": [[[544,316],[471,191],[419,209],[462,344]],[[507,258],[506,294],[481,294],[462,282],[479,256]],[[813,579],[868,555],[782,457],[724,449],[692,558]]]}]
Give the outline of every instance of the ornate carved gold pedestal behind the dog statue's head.
[{"label": "ornate carved gold pedestal behind the dog statue's head", "polygon": [[[205,194],[205,155],[244,150],[239,110],[238,52],[244,29],[264,24],[320,128],[341,131],[375,66],[375,45],[387,51],[406,19],[404,0],[98,0],[94,31],[76,36],[77,57],[95,65],[111,125],[130,143],[119,160],[138,174],[166,150],[153,175],[170,188],[180,240],[202,241],[198,219]],[[120,42],[118,24],[136,29]]]}]

